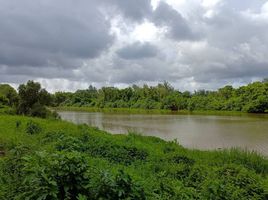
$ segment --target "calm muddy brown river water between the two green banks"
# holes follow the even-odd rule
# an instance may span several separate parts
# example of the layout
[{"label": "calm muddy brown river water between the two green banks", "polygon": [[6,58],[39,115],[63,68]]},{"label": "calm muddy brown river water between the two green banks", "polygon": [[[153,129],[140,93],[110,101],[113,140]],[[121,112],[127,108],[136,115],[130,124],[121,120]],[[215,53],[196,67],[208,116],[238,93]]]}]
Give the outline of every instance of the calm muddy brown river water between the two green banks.
[{"label": "calm muddy brown river water between the two green banks", "polygon": [[268,116],[133,115],[59,112],[62,119],[86,123],[111,133],[136,131],[188,148],[241,147],[268,155]]}]

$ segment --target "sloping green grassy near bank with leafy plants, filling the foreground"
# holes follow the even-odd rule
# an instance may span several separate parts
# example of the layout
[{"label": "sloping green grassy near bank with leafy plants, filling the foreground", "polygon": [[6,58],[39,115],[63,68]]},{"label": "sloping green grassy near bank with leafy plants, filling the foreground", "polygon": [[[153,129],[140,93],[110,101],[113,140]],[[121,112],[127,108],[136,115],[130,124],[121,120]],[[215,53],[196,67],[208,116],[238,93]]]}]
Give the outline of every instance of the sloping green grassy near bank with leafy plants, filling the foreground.
[{"label": "sloping green grassy near bank with leafy plants, filling the foreground", "polygon": [[268,199],[268,160],[0,114],[0,199]]}]

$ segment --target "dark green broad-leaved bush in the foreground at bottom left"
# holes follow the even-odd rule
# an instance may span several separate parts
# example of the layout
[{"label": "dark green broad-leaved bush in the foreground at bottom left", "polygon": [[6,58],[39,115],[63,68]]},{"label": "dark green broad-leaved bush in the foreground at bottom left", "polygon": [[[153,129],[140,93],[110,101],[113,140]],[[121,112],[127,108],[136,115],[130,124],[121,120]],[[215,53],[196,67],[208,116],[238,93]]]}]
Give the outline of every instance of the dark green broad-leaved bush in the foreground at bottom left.
[{"label": "dark green broad-leaved bush in the foreground at bottom left", "polygon": [[39,152],[24,158],[24,180],[18,199],[71,199],[90,197],[89,166],[78,152]]}]

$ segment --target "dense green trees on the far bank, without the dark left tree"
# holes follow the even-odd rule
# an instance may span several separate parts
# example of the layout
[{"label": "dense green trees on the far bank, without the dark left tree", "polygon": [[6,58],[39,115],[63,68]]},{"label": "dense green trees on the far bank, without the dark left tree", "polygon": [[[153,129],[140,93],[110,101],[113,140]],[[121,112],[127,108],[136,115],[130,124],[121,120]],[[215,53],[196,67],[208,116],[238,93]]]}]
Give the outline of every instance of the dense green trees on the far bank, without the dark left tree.
[{"label": "dense green trees on the far bank, without the dark left tree", "polygon": [[225,86],[218,91],[175,90],[167,82],[149,87],[136,85],[125,89],[90,86],[74,93],[56,92],[53,105],[60,107],[128,108],[149,110],[233,111],[265,113],[268,111],[268,82],[255,82],[240,88]]}]

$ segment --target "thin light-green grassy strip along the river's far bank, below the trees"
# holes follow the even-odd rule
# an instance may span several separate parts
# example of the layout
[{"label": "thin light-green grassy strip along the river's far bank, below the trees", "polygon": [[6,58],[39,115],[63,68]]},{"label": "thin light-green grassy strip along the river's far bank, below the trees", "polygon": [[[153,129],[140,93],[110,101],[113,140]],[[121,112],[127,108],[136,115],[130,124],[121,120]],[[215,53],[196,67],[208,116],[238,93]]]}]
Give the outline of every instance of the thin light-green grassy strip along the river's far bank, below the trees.
[{"label": "thin light-green grassy strip along the river's far bank, below the trees", "polygon": [[[236,111],[188,111],[188,110],[161,110],[161,109],[135,109],[135,108],[97,108],[97,107],[75,107],[63,106],[53,107],[52,110],[58,111],[78,111],[78,112],[103,112],[103,113],[120,113],[120,114],[172,114],[172,115],[226,115],[226,116],[239,116],[239,115],[255,115],[245,112]],[[259,114],[261,115],[261,114]],[[262,114],[265,115],[265,114]]]}]

